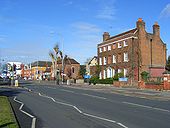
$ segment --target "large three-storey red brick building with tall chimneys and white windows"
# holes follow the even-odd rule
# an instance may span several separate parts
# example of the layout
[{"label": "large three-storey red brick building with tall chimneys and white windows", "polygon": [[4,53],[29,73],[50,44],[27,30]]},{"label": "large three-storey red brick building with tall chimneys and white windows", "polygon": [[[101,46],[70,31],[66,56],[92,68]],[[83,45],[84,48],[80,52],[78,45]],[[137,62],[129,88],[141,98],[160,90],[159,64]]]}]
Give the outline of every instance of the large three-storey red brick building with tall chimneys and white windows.
[{"label": "large three-storey red brick building with tall chimneys and white windows", "polygon": [[136,28],[110,36],[103,34],[103,42],[98,44],[100,78],[111,78],[122,72],[125,77],[139,81],[140,74],[162,75],[166,64],[166,44],[160,37],[160,26],[153,25],[153,33],[145,30],[145,22],[139,18]]}]

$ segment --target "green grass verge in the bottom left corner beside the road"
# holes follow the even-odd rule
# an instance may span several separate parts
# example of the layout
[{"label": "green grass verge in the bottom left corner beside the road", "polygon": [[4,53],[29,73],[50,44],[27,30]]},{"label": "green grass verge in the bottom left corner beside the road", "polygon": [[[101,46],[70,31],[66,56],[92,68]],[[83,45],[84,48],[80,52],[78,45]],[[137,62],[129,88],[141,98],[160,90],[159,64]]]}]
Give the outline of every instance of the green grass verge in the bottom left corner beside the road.
[{"label": "green grass verge in the bottom left corner beside the road", "polygon": [[0,96],[0,128],[19,128],[8,98]]}]

